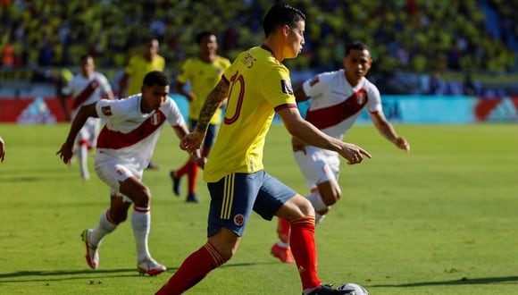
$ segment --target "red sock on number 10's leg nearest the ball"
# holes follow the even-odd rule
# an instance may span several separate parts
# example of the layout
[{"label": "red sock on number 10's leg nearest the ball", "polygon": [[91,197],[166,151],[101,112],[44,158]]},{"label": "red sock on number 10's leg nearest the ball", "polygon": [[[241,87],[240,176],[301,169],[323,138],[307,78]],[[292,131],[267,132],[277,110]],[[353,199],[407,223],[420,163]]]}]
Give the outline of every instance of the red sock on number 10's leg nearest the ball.
[{"label": "red sock on number 10's leg nearest the ball", "polygon": [[316,272],[316,244],[314,217],[302,217],[291,222],[289,237],[291,252],[297,263],[302,290],[317,288],[322,284]]}]

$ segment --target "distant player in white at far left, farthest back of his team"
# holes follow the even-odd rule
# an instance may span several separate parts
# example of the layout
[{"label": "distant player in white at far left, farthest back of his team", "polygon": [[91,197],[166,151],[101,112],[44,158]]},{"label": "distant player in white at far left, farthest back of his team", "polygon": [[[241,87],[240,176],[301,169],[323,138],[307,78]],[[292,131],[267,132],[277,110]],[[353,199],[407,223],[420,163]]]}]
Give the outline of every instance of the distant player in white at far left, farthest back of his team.
[{"label": "distant player in white at far left, farthest back of his team", "polygon": [[[78,114],[82,105],[94,104],[101,98],[113,99],[112,87],[102,73],[95,72],[94,58],[91,55],[81,56],[79,73],[63,87],[60,98],[64,100],[68,96],[72,97],[72,119]],[[96,146],[99,126],[100,119],[88,118],[76,139],[75,154],[78,157],[80,176],[84,180],[90,179],[87,164],[88,150]]]}]

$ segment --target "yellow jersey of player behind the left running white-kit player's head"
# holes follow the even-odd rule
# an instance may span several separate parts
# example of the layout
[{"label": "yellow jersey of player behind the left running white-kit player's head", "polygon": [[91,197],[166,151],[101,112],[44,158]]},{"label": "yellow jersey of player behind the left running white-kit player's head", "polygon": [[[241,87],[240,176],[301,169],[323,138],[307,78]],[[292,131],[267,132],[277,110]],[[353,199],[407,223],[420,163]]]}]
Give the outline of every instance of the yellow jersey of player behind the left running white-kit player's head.
[{"label": "yellow jersey of player behind the left running white-kit player's head", "polygon": [[140,93],[142,81],[148,72],[160,71],[163,72],[165,67],[165,60],[161,55],[155,55],[153,60],[149,62],[144,55],[134,55],[129,59],[129,63],[124,69],[129,76],[128,90],[126,96],[132,96]]}]

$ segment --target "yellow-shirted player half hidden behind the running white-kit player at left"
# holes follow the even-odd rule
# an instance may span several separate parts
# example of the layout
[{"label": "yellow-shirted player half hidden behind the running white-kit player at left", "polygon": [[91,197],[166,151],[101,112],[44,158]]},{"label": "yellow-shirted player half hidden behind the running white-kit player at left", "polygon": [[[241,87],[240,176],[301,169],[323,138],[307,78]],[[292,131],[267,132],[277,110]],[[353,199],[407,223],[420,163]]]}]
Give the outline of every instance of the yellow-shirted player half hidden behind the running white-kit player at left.
[{"label": "yellow-shirted player half hidden behind the running white-kit player at left", "polygon": [[[146,39],[146,46],[143,55],[133,55],[124,69],[121,80],[119,80],[119,97],[129,97],[140,93],[142,80],[148,72],[160,71],[165,68],[165,59],[158,54],[160,43],[158,38],[149,37]],[[160,167],[149,162],[147,169],[159,170]]]}]

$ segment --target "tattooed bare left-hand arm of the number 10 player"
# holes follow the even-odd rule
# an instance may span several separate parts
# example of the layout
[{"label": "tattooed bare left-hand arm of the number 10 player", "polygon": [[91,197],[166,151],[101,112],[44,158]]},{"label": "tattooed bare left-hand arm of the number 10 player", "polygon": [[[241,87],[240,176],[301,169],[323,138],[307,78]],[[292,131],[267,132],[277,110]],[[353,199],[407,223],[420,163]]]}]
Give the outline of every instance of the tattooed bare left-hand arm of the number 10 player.
[{"label": "tattooed bare left-hand arm of the number 10 player", "polygon": [[229,86],[230,84],[227,80],[221,79],[209,93],[198,116],[195,130],[188,133],[188,135],[181,140],[180,148],[192,153],[201,147],[213,114],[221,105],[221,102],[229,96]]}]

